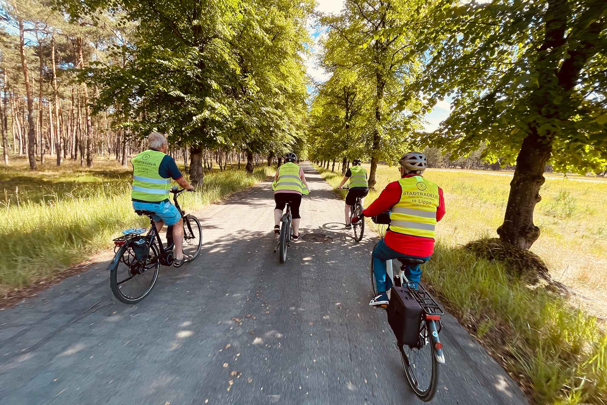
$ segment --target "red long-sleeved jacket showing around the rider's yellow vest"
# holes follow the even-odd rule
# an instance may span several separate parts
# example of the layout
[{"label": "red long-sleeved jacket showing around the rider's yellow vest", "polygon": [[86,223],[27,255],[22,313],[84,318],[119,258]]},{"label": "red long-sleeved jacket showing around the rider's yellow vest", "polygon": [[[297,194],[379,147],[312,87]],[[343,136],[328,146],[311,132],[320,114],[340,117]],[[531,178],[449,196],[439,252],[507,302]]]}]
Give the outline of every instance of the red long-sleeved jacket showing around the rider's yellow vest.
[{"label": "red long-sleeved jacket showing around the rider's yellow vest", "polygon": [[[419,174],[408,174],[403,177],[413,177]],[[392,182],[385,186],[384,191],[379,194],[370,206],[362,213],[365,217],[373,217],[383,213],[387,209],[392,209],[400,200],[402,189],[399,182]],[[443,219],[445,215],[445,199],[443,197],[443,189],[438,188],[439,203],[436,208],[436,222]],[[388,247],[396,250],[407,256],[429,257],[434,253],[434,239],[429,237],[420,237],[405,235],[388,230],[384,237],[385,244]]]}]

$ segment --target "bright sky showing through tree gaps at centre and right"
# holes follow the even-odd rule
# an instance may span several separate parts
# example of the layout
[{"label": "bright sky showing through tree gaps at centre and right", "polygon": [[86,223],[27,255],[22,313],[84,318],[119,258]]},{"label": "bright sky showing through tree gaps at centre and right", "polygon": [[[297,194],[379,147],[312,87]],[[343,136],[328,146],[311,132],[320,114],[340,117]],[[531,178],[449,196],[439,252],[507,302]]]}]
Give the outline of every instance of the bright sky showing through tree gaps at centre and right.
[{"label": "bright sky showing through tree gaps at centre and right", "polygon": [[[316,0],[317,6],[316,10],[324,13],[334,13],[337,14],[341,11],[344,2],[342,0]],[[319,51],[319,43],[318,39],[322,33],[325,32],[326,27],[320,27],[314,25],[314,20],[311,19],[308,22],[308,30],[310,31],[310,35],[314,39],[314,43],[310,46],[311,56],[306,61],[306,69],[308,75],[312,77],[314,80],[323,82],[328,80],[330,75],[324,71],[324,69],[320,69],[316,65],[316,55]],[[311,88],[308,86],[308,92],[311,92]],[[450,111],[450,100],[445,99],[444,101],[440,101],[430,114],[426,115],[426,120],[428,123],[426,124],[426,131],[434,131],[438,128],[438,124],[449,117]]]}]

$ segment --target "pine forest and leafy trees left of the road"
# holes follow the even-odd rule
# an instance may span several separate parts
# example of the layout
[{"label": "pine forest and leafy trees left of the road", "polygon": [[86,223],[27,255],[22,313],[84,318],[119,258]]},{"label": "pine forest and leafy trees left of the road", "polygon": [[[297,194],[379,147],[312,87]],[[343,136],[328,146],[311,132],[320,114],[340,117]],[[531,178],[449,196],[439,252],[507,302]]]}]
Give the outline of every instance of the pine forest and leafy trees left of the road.
[{"label": "pine forest and leafy trees left of the road", "polygon": [[2,2],[5,165],[15,154],[31,169],[64,159],[90,167],[95,155],[126,166],[151,131],[168,135],[198,184],[212,160],[220,169],[244,160],[252,172],[304,152],[311,3],[82,6]]}]

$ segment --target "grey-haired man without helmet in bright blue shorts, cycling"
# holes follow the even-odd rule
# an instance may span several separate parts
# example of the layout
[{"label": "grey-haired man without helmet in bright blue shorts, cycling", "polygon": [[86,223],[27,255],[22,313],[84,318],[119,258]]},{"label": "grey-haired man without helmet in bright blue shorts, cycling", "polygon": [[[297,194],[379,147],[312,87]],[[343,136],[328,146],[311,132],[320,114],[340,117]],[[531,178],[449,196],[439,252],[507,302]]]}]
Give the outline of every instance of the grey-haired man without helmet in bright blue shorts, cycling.
[{"label": "grey-haired man without helmet in bright blue shorts, cycling", "polygon": [[171,201],[171,178],[181,188],[194,191],[194,187],[181,175],[177,163],[167,153],[169,145],[163,134],[152,132],[148,136],[148,149],[131,159],[133,187],[131,200],[134,209],[155,213],[154,222],[160,232],[163,225],[174,225],[172,236],[175,243],[175,267],[181,267],[192,259],[183,254],[183,219]]}]

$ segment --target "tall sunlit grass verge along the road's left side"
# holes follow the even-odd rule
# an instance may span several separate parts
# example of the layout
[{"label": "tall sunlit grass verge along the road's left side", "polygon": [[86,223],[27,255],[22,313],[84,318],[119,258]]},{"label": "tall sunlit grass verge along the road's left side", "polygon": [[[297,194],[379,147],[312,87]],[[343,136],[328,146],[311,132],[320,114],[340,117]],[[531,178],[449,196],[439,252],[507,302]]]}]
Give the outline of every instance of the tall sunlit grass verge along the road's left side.
[{"label": "tall sunlit grass verge along the road's left side", "polygon": [[[260,167],[253,175],[239,170],[205,175],[202,189],[181,194],[180,205],[191,212],[253,186],[266,174],[270,174],[268,168]],[[22,181],[27,182],[27,177]],[[112,182],[111,186],[91,185],[87,191],[83,190],[87,185],[75,187],[77,195],[36,196],[2,207],[0,291],[52,277],[56,271],[110,247],[118,231],[149,225],[147,218],[138,217],[132,209],[130,179]]]}]

